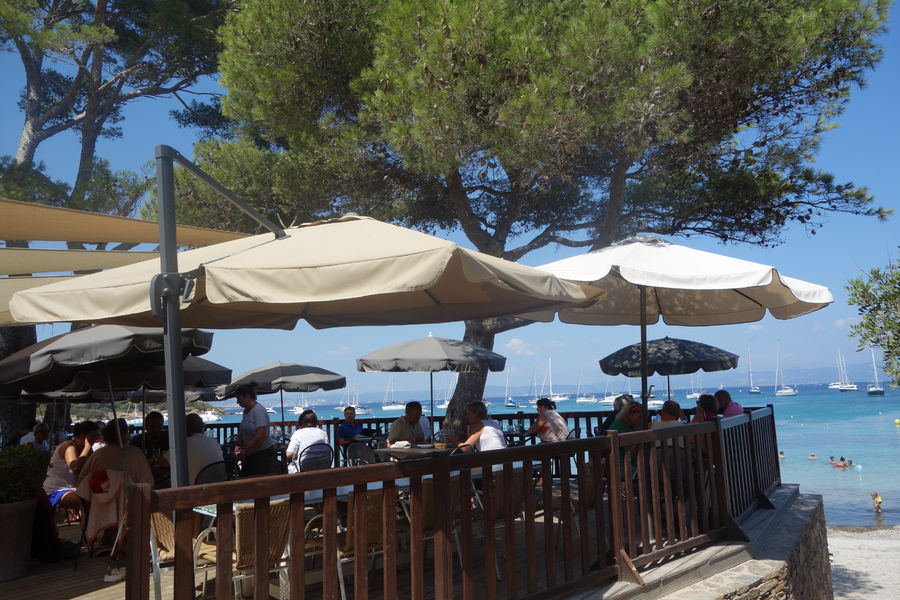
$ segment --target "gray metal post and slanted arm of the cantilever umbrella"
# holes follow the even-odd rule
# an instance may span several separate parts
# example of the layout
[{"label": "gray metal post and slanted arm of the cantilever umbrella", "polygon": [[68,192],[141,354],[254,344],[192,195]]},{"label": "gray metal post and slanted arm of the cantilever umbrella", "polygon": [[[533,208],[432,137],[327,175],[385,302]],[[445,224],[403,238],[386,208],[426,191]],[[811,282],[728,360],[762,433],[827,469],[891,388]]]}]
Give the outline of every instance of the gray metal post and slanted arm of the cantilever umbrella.
[{"label": "gray metal post and slanted arm of the cantilever umbrella", "polygon": [[171,146],[156,147],[156,187],[159,218],[160,274],[150,286],[153,314],[165,328],[166,407],[169,411],[169,447],[174,451],[172,485],[190,485],[187,471],[187,428],[184,419],[184,370],[181,358],[181,298],[189,297],[193,278],[178,272],[178,240],[175,224],[175,163],[187,169],[244,214],[275,234],[285,237],[284,229],[254,210],[234,192],[217,182],[200,167]]}]

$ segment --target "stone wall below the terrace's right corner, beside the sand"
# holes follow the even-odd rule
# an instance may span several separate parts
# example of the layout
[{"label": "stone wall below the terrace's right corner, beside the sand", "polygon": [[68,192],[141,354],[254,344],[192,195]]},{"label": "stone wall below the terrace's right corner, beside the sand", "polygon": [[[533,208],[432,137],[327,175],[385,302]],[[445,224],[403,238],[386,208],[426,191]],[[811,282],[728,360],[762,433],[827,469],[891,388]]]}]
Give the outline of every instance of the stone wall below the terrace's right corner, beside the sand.
[{"label": "stone wall below the terrace's right corner, beside the sand", "polygon": [[[786,523],[785,529],[790,526]],[[768,563],[777,568],[750,585],[720,596],[722,600],[833,600],[825,512],[821,499],[802,533],[794,539],[786,560],[752,562],[760,565]]]}]

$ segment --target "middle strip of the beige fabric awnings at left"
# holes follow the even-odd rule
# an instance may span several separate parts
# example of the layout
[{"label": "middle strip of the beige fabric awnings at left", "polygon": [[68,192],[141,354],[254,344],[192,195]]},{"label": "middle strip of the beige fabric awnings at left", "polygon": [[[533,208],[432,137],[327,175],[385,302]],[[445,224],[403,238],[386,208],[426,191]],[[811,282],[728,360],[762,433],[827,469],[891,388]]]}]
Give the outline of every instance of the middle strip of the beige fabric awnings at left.
[{"label": "middle strip of the beige fabric awnings at left", "polygon": [[0,248],[0,275],[95,271],[157,258],[157,252]]}]

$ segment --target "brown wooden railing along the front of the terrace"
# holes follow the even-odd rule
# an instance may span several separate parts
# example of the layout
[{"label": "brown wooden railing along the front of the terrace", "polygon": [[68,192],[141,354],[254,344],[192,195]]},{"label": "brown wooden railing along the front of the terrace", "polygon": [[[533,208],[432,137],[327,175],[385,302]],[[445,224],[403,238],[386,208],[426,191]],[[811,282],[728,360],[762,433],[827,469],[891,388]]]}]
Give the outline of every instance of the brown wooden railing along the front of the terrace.
[{"label": "brown wooden railing along the front of the terrace", "polygon": [[[344,579],[356,598],[381,588],[385,598],[413,600],[525,597],[610,577],[640,583],[641,567],[734,536],[736,520],[761,505],[758,498],[748,501],[744,479],[756,490],[780,482],[773,417],[768,408],[724,421],[482,454],[171,490],[131,487],[126,597],[149,598],[156,512],[173,515],[174,598],[194,596],[192,512],[212,504],[215,555],[229,557],[212,567],[216,598],[232,598],[230,557],[242,502],[256,509],[256,556],[270,545],[276,511],[269,507],[288,505],[289,517],[277,523],[290,557],[284,597],[335,599]],[[317,515],[312,525],[311,512]],[[380,566],[370,570],[354,548],[367,548]],[[253,564],[251,595],[268,598],[270,565]]]}]

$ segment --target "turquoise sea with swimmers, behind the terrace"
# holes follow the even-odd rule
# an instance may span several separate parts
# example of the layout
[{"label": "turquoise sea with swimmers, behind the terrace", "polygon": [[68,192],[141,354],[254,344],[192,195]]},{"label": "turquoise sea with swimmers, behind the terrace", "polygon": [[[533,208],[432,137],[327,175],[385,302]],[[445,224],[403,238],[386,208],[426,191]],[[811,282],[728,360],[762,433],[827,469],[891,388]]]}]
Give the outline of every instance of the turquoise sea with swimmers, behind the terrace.
[{"label": "turquoise sea with swimmers, behind the terrace", "polygon": [[[772,389],[750,395],[730,389],[732,397],[744,406],[773,404],[781,461],[782,481],[800,484],[801,493],[822,494],[825,515],[831,525],[900,525],[900,390],[885,386],[884,396],[868,396],[865,391],[839,392],[825,384],[796,386],[799,394],[775,397]],[[865,383],[860,383],[865,390]],[[683,390],[675,390],[682,406],[693,404],[684,398]],[[266,404],[272,403],[266,398]],[[495,413],[515,412],[503,407],[502,398],[488,398]],[[521,403],[525,404],[524,398]],[[334,402],[333,404],[336,404]],[[364,405],[366,403],[363,403]],[[399,416],[401,411],[383,411],[371,405],[372,415],[361,417]],[[574,398],[560,403],[564,412],[608,410],[607,405],[576,404]],[[286,406],[287,409],[289,407]],[[332,419],[340,414],[332,404],[314,406],[320,418]],[[276,408],[277,410],[277,408]],[[529,407],[523,410],[533,410]],[[436,409],[440,415],[443,411]],[[271,415],[276,417],[277,415]],[[287,419],[296,418],[286,415]],[[226,415],[223,421],[239,421]],[[818,460],[808,460],[815,452]],[[836,469],[828,464],[830,456],[851,459],[854,469]],[[870,493],[877,491],[884,499],[881,515],[872,511]]]}]

